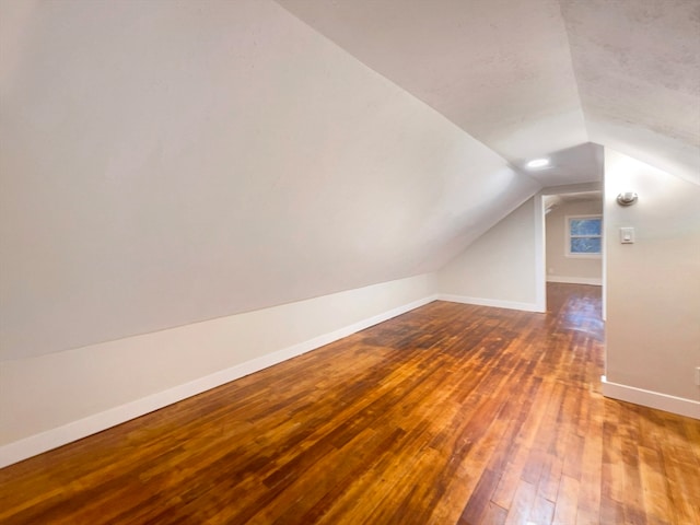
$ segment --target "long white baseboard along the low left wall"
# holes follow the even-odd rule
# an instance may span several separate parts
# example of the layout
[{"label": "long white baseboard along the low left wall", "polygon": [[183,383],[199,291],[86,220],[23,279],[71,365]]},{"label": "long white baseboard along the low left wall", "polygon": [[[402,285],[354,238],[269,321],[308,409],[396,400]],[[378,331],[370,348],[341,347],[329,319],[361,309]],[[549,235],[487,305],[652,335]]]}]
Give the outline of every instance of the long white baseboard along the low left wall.
[{"label": "long white baseboard along the low left wall", "polygon": [[283,348],[276,352],[261,355],[245,363],[241,363],[230,369],[214,372],[195,381],[184,383],[182,385],[168,388],[158,394],[142,397],[131,402],[120,405],[118,407],[104,410],[102,412],[89,416],[77,421],[57,427],[55,429],[40,432],[38,434],[24,438],[22,440],[0,446],[0,468],[21,462],[28,457],[42,454],[58,446],[66,445],[70,442],[86,438],[88,435],[101,432],[110,427],[124,423],[131,419],[138,418],[145,413],[158,410],[167,405],[182,401],[188,397],[201,394],[217,386],[221,386],[231,381],[237,380],[245,375],[253,374],[260,370],[281,363],[288,359],[301,355],[311,350],[328,345],[330,342],[348,337],[357,331],[369,328],[376,324],[383,323],[392,317],[405,314],[411,310],[423,306],[438,299],[438,295],[429,295],[427,298],[413,301],[402,306],[397,306],[382,314],[374,315],[366,319],[360,320],[352,325],[346,326],[338,330],[323,334],[306,341],[291,347]]}]

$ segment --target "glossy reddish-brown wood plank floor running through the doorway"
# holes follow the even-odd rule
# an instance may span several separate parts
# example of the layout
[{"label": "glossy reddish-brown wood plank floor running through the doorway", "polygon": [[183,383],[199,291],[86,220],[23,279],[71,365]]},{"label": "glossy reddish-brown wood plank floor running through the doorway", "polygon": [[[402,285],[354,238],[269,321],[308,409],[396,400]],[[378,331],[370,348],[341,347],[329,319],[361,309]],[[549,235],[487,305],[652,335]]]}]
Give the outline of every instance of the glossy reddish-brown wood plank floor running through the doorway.
[{"label": "glossy reddish-brown wood plank floor running through the doorway", "polygon": [[700,421],[603,398],[599,289],[549,302],[434,302],[8,467],[0,523],[699,524]]}]

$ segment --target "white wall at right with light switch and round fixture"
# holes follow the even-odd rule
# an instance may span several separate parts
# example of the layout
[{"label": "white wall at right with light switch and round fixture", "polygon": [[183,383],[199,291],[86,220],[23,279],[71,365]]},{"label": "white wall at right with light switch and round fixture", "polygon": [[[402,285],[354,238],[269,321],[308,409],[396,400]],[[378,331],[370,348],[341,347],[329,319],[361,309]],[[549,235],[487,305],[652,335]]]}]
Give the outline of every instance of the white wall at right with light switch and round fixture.
[{"label": "white wall at right with light switch and round fixture", "polygon": [[[630,190],[638,203],[618,206]],[[700,186],[606,149],[605,235],[604,393],[700,418]]]}]

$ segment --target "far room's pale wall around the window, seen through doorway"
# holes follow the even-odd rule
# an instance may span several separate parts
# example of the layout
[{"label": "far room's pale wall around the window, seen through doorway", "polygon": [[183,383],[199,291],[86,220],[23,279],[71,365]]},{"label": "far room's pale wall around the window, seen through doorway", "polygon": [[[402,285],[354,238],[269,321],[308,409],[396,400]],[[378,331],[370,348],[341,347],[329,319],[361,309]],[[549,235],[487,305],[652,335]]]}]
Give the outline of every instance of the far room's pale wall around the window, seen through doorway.
[{"label": "far room's pale wall around the window, seen through doorway", "polygon": [[603,213],[603,200],[561,201],[545,219],[547,280],[580,284],[602,284],[603,260],[567,256],[567,215]]}]

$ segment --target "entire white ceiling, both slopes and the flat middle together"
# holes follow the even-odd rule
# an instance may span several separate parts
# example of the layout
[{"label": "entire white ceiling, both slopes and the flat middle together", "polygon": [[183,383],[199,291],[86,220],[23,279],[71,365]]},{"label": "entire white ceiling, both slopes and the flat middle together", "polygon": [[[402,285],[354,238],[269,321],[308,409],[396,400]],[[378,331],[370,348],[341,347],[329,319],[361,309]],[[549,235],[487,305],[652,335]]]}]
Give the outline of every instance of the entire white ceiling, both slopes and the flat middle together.
[{"label": "entire white ceiling, both slopes and the flat middle together", "polygon": [[0,357],[434,271],[539,187],[599,179],[593,142],[697,178],[698,23],[670,0],[0,2]]}]

